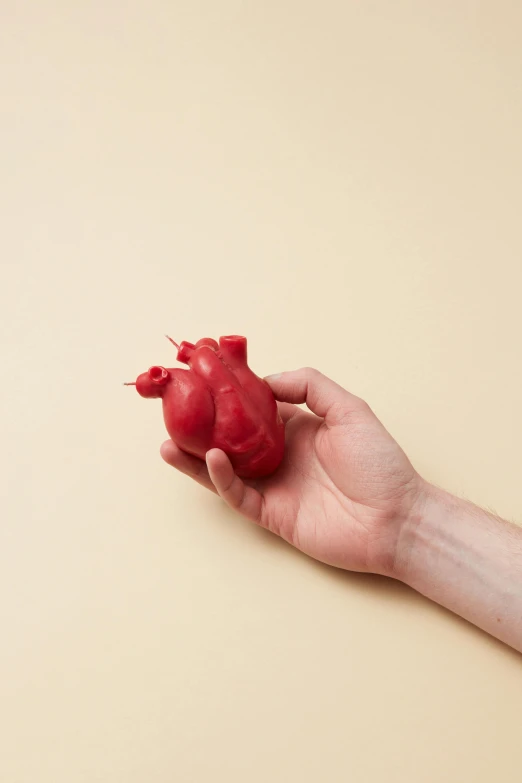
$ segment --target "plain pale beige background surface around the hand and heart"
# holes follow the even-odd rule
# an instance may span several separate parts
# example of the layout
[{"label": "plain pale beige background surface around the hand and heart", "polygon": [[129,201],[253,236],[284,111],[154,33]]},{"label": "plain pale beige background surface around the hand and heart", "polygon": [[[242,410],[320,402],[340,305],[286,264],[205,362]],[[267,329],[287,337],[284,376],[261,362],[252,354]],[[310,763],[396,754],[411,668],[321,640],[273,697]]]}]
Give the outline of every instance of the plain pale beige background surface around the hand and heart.
[{"label": "plain pale beige background surface around the hand and heart", "polygon": [[1,783],[519,781],[521,658],[157,456],[239,332],[521,520],[522,6],[1,3]]}]

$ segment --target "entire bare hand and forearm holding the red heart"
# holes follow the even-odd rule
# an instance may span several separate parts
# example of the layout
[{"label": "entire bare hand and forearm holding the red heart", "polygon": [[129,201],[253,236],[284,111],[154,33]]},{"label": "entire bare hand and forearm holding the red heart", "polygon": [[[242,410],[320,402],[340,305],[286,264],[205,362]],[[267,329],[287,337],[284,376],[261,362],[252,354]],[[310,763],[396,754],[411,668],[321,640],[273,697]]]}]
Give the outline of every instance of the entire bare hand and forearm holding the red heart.
[{"label": "entire bare hand and forearm holding the red heart", "polygon": [[267,381],[286,424],[272,476],[245,482],[219,449],[204,462],[172,441],[163,459],[310,557],[398,579],[522,652],[522,527],[425,481],[370,407],[317,370]]}]

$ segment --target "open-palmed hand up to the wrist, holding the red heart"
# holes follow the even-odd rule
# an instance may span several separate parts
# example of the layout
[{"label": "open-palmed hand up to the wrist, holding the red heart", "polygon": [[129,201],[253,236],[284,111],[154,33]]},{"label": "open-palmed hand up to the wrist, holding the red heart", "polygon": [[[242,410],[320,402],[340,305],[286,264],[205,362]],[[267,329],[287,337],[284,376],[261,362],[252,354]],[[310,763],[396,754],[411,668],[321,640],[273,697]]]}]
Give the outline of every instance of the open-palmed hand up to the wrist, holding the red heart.
[{"label": "open-palmed hand up to the wrist, holding the red heart", "polygon": [[[368,405],[317,370],[267,381],[286,425],[285,457],[273,475],[243,481],[223,451],[209,451],[205,464],[172,441],[163,459],[311,557],[394,576],[401,528],[423,480]],[[303,402],[311,412],[297,407]]]}]

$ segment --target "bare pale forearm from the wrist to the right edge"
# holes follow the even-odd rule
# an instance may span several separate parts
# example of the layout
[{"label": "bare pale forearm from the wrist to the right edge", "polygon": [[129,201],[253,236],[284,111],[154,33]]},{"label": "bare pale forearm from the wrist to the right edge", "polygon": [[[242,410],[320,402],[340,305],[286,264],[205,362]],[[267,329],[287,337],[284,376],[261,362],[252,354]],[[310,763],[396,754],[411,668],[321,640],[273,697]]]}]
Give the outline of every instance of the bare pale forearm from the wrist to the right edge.
[{"label": "bare pale forearm from the wrist to the right edge", "polygon": [[522,528],[428,485],[396,576],[522,652]]}]

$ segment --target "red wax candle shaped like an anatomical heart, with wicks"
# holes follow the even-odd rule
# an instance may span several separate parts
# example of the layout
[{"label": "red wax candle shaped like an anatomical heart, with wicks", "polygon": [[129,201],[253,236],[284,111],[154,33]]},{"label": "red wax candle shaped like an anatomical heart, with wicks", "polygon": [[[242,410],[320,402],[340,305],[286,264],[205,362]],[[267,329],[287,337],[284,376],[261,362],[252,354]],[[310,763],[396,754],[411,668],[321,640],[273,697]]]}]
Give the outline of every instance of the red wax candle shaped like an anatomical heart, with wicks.
[{"label": "red wax candle shaped like an anatomical heart, with wicks", "polygon": [[244,478],[272,473],[283,458],[284,425],[270,387],[247,364],[246,338],[174,345],[188,370],[154,366],[136,379],[142,397],[162,398],[172,440],[202,459],[223,449]]}]

